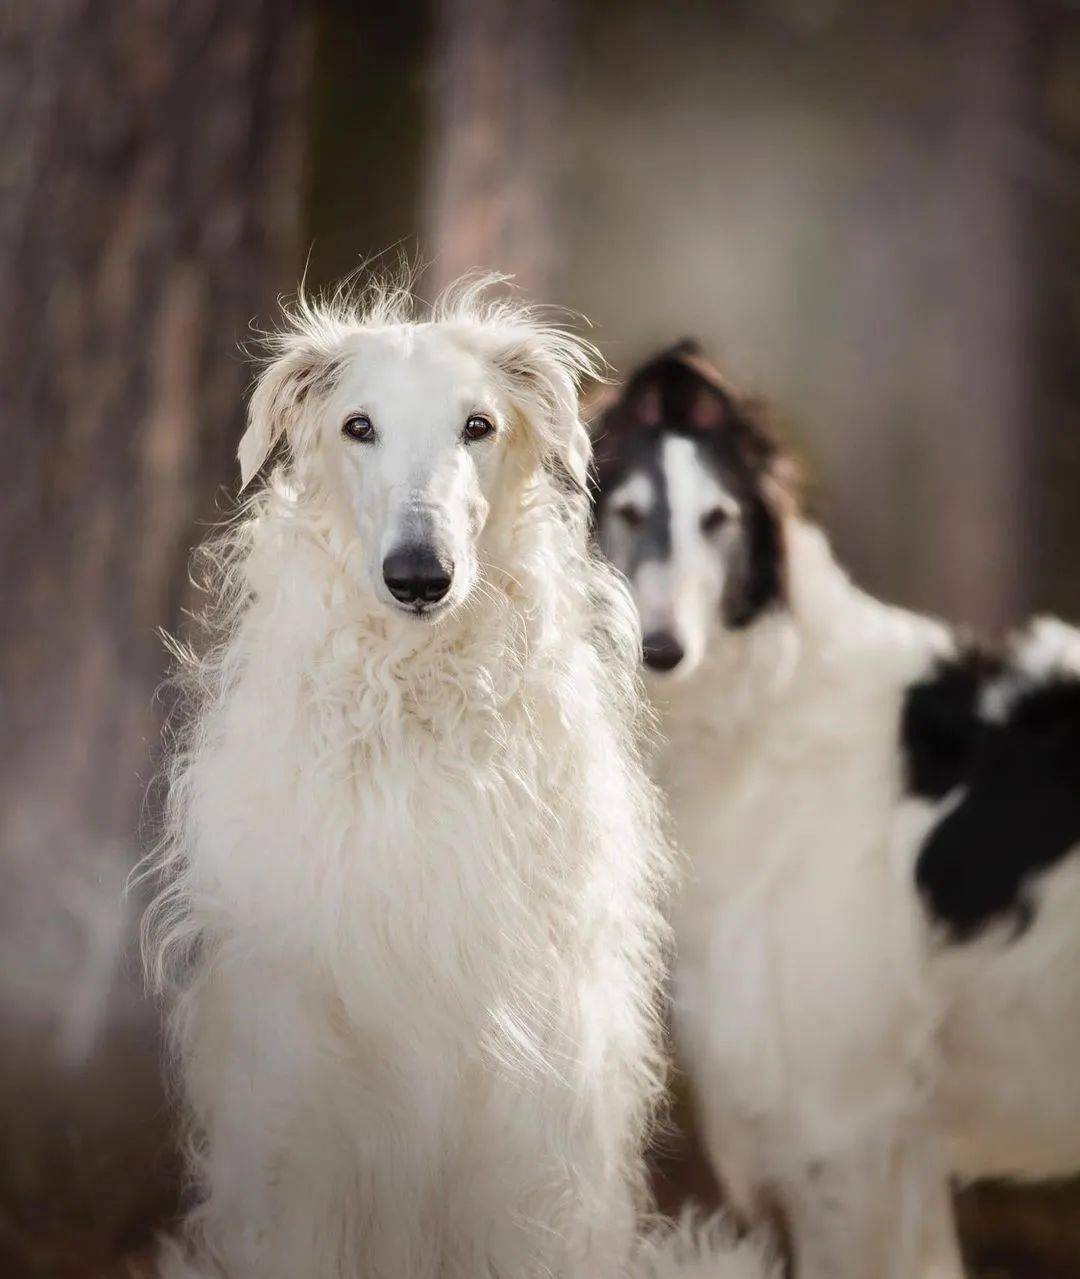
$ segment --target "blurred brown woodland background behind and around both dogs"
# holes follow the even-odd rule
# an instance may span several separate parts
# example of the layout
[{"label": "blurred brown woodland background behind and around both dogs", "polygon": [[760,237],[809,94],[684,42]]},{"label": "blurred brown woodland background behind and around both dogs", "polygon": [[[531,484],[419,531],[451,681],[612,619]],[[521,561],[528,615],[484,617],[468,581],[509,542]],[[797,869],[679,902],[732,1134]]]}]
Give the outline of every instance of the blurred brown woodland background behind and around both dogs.
[{"label": "blurred brown woodland background behind and around both dogs", "polygon": [[[769,399],[857,578],[1080,620],[1071,0],[5,0],[0,1274],[113,1276],[179,1193],[122,888],[238,344],[401,247],[686,334]],[[139,834],[139,831],[143,834]],[[667,1205],[710,1193],[690,1137]],[[961,1201],[984,1275],[1080,1274],[1080,1195]]]}]

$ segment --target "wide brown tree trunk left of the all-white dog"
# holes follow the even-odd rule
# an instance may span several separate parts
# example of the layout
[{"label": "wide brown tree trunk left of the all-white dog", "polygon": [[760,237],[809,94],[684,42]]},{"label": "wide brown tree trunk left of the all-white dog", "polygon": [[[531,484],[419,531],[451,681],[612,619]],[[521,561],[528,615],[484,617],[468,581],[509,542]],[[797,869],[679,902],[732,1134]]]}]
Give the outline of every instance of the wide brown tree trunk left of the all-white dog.
[{"label": "wide brown tree trunk left of the all-white dog", "polygon": [[137,906],[159,625],[296,280],[302,0],[9,0],[0,43],[0,1271],[174,1202]]}]

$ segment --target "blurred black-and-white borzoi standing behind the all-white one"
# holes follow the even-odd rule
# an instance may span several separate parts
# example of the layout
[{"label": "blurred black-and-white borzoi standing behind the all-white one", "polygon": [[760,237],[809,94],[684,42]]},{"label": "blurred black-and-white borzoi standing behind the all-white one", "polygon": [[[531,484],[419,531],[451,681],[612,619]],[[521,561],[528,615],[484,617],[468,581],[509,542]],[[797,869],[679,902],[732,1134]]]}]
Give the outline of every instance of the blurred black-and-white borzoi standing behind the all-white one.
[{"label": "blurred black-and-white borzoi standing behind the all-white one", "polygon": [[676,1028],[798,1279],[957,1275],[949,1174],[1080,1168],[1080,636],[1003,659],[856,590],[692,347],[598,435],[692,861]]}]

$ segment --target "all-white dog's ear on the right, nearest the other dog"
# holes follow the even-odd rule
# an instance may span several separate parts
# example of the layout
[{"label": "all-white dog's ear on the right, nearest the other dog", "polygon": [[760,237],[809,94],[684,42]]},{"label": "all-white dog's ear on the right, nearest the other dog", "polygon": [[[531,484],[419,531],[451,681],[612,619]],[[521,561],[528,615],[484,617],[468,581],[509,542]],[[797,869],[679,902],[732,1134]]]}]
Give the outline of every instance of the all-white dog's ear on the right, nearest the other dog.
[{"label": "all-white dog's ear on the right, nearest the other dog", "polygon": [[541,464],[585,492],[592,441],[581,420],[577,384],[592,371],[590,348],[557,329],[526,325],[503,335],[494,359],[537,432]]}]

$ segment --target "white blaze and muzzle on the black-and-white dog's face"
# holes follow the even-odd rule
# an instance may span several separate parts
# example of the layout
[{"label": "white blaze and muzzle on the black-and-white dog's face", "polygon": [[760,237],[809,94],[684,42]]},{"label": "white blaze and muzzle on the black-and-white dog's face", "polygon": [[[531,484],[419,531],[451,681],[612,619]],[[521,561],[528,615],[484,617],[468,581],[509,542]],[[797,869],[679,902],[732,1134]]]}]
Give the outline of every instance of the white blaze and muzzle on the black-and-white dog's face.
[{"label": "white blaze and muzzle on the black-and-white dog's face", "polygon": [[660,475],[668,521],[667,555],[644,558],[631,573],[646,641],[664,636],[682,650],[673,677],[690,674],[705,655],[720,616],[726,561],[737,537],[738,503],[703,463],[694,441],[663,441]]}]

